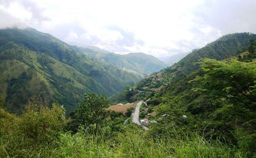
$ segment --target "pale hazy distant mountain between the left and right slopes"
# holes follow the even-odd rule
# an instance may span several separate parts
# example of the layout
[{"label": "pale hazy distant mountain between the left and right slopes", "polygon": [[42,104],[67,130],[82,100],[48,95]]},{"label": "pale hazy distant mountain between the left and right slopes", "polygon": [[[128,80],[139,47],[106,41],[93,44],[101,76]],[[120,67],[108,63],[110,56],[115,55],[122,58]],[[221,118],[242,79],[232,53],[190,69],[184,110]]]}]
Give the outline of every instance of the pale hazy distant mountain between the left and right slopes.
[{"label": "pale hazy distant mountain between the left and right slopes", "polygon": [[75,46],[74,48],[95,59],[113,64],[119,69],[135,73],[142,78],[167,67],[167,64],[158,60],[156,57],[144,53],[120,55],[103,51],[97,47],[80,48]]}]

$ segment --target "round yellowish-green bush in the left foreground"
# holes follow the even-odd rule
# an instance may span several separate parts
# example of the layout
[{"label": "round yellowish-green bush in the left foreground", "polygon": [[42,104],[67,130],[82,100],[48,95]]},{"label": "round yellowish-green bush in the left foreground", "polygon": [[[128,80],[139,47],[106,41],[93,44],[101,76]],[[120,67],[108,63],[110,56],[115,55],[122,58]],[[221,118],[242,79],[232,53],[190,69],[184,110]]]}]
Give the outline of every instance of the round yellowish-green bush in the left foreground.
[{"label": "round yellowish-green bush in the left foreground", "polygon": [[22,137],[27,139],[27,142],[33,141],[32,144],[53,142],[66,123],[65,110],[57,102],[49,109],[38,99],[33,99],[20,115]]}]

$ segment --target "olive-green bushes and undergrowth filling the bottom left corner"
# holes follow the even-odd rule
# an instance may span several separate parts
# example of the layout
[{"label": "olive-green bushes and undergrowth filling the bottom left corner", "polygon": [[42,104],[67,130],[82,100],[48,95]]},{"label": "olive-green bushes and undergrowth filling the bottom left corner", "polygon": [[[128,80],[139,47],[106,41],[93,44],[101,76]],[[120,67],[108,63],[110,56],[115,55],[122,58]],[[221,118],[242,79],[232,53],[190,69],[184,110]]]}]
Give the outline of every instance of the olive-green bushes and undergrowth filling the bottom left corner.
[{"label": "olive-green bushes and undergrowth filling the bottom left corner", "polygon": [[62,106],[55,102],[50,109],[38,98],[31,100],[19,117],[1,111],[0,157],[40,156],[54,145],[67,123]]}]

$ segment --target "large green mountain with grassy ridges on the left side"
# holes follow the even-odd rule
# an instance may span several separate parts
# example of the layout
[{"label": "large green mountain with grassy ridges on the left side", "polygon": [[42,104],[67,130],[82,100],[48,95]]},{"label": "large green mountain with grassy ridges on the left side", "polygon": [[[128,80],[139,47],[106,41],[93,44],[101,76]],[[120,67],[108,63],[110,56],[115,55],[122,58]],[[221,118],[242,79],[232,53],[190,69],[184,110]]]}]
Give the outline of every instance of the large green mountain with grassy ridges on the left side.
[{"label": "large green mountain with grassy ridges on the left side", "polygon": [[0,30],[0,61],[0,96],[13,112],[35,95],[69,112],[84,93],[111,96],[141,79],[31,28]]}]

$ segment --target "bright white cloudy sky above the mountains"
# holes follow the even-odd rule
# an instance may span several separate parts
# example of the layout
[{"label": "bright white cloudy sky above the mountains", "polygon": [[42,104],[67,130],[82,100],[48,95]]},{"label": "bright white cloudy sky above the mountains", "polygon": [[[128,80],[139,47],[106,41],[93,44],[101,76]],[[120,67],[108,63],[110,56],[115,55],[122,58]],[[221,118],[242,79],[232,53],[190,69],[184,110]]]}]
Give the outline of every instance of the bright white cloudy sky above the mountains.
[{"label": "bright white cloudy sky above the mountains", "polygon": [[32,27],[78,46],[164,58],[256,33],[254,0],[0,0],[0,29]]}]

